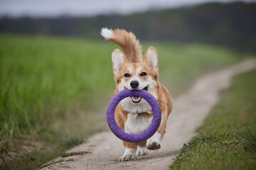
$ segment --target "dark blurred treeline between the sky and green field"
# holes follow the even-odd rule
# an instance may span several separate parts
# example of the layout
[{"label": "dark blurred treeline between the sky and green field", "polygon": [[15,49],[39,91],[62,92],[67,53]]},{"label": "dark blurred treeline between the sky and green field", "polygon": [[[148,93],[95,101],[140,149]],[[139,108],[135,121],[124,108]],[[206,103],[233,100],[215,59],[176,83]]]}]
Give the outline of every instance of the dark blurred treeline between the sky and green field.
[{"label": "dark blurred treeline between the sky and green field", "polygon": [[125,28],[140,40],[199,42],[256,51],[256,3],[210,3],[129,16],[0,19],[1,33],[101,38],[100,29]]}]

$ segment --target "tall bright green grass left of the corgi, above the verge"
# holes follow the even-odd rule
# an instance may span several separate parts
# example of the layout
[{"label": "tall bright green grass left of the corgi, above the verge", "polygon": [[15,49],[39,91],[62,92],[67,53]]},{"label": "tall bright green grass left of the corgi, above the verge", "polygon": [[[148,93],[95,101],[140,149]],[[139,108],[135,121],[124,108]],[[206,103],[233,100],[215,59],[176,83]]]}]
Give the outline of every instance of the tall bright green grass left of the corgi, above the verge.
[{"label": "tall bright green grass left of the corgi, above the verge", "polygon": [[1,145],[79,108],[92,109],[110,94],[114,82],[108,54],[113,46],[9,35],[0,39]]}]

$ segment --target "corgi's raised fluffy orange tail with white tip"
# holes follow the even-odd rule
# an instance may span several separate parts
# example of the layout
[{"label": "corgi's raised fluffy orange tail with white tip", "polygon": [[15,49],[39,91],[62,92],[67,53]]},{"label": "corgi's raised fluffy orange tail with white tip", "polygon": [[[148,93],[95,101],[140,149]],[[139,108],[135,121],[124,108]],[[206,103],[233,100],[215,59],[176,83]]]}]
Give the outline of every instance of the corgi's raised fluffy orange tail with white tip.
[{"label": "corgi's raised fluffy orange tail with white tip", "polygon": [[124,52],[129,62],[142,62],[142,46],[132,32],[120,29],[102,28],[101,35],[114,43],[117,43]]}]

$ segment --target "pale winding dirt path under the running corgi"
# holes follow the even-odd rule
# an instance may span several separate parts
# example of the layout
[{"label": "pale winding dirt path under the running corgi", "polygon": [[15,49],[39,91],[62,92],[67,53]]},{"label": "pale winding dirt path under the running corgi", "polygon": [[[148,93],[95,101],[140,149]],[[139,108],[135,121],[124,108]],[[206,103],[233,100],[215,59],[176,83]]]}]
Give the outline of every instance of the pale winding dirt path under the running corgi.
[{"label": "pale winding dirt path under the running corgi", "polygon": [[158,151],[149,151],[149,155],[139,156],[136,161],[119,162],[124,152],[121,140],[110,131],[101,132],[70,150],[92,153],[65,157],[65,160],[73,161],[56,163],[44,169],[169,169],[183,143],[196,135],[196,128],[218,101],[219,92],[230,85],[230,79],[235,74],[254,68],[256,60],[250,59],[207,74],[198,79],[186,94],[174,98],[174,111],[169,117],[166,135]]}]

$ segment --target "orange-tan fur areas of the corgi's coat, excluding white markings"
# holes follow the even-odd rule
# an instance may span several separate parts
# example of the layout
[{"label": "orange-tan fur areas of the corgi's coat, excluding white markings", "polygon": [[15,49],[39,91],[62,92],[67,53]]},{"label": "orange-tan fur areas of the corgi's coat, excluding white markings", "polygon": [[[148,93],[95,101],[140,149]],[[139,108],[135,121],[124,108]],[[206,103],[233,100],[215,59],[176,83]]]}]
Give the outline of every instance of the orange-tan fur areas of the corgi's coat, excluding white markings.
[{"label": "orange-tan fur areas of the corgi's coat, excluding white markings", "polygon": [[[156,49],[154,47],[149,47],[149,50],[146,52],[146,54],[144,55],[144,59],[142,60],[141,46],[139,45],[139,40],[136,39],[133,33],[131,32],[127,33],[126,30],[119,30],[119,29],[111,30],[111,31],[114,37],[106,38],[106,39],[117,43],[120,47],[122,47],[122,50],[124,51],[124,54],[122,54],[124,62],[122,64],[121,69],[118,72],[114,68],[114,63],[113,63],[114,80],[116,81],[116,89],[114,91],[114,94],[117,94],[120,90],[122,90],[119,88],[119,84],[121,82],[128,82],[130,79],[132,79],[132,77],[139,77],[140,72],[137,72],[137,68],[141,68],[143,72],[146,72],[147,75],[145,77],[139,77],[139,79],[141,79],[142,81],[148,81],[149,79],[154,81],[155,86],[154,86],[153,92],[154,94],[157,94],[157,101],[159,102],[159,105],[161,107],[161,116],[162,116],[161,124],[157,132],[159,132],[159,134],[162,137],[166,132],[166,122],[172,110],[172,101],[171,101],[171,96],[169,94],[169,91],[158,81],[158,77],[159,77],[158,63],[156,64],[155,68],[151,67],[148,52],[149,50],[154,50],[154,52],[157,55]],[[114,50],[114,52],[120,52],[120,51]],[[124,77],[124,74],[127,72],[127,68],[129,68],[129,74],[131,74],[131,77]],[[125,111],[122,105],[119,103],[116,108],[114,116],[115,116],[117,125],[122,130],[124,130],[124,123],[127,121],[128,114],[129,112]],[[150,118],[152,116],[152,111],[147,111],[141,114],[143,114],[145,118]],[[137,145],[141,147],[144,147],[146,145],[146,141],[138,142],[138,143],[123,141],[123,143],[124,143],[124,147],[132,148],[132,149],[136,149]]]}]

